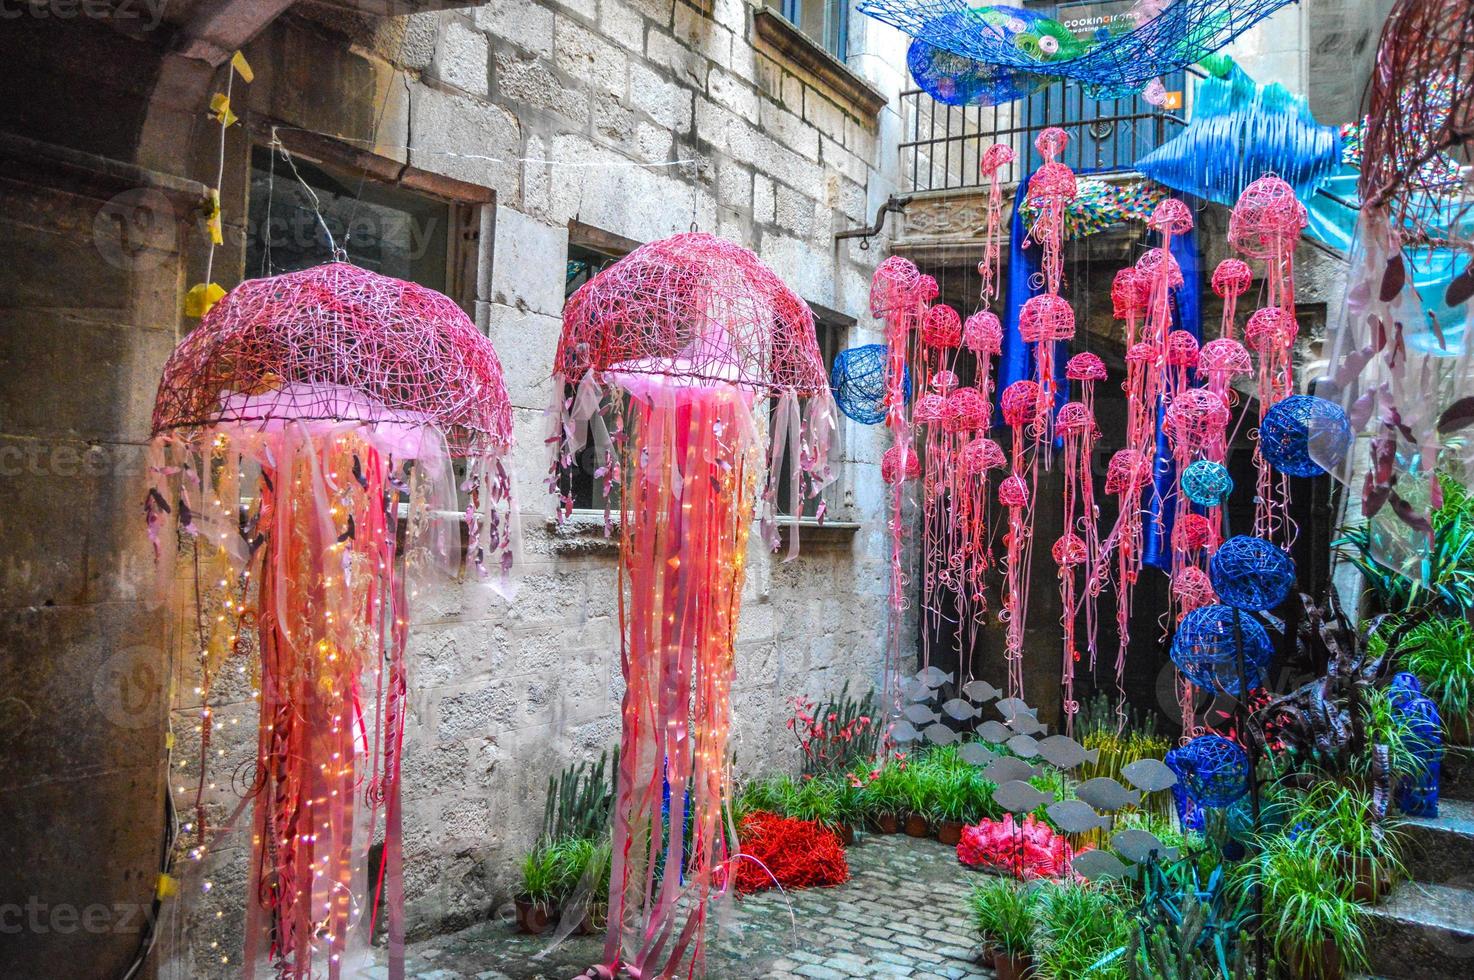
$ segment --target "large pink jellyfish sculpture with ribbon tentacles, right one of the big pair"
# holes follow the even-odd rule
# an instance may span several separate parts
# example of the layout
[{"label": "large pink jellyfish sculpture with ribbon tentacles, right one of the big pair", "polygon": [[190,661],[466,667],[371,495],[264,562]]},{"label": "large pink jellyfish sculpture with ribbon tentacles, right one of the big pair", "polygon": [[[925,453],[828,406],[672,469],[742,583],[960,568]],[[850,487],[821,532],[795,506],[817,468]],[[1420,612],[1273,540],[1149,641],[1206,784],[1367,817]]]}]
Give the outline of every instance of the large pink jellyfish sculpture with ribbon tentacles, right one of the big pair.
[{"label": "large pink jellyfish sculpture with ribbon tentacles, right one of the big pair", "polygon": [[[877,299],[887,314],[920,304],[905,289]],[[811,492],[827,482],[833,399],[814,315],[747,249],[678,234],[635,249],[569,298],[553,380],[554,469],[595,429],[600,458],[622,475],[625,694],[603,967],[699,974],[709,900],[736,878],[722,821],[755,489],[766,470],[762,526],[777,547],[780,473]],[[793,489],[784,510],[802,513],[802,501]],[[790,533],[789,557],[794,544]],[[652,834],[663,799],[682,800],[685,819]],[[662,881],[662,865],[681,874]]]}]

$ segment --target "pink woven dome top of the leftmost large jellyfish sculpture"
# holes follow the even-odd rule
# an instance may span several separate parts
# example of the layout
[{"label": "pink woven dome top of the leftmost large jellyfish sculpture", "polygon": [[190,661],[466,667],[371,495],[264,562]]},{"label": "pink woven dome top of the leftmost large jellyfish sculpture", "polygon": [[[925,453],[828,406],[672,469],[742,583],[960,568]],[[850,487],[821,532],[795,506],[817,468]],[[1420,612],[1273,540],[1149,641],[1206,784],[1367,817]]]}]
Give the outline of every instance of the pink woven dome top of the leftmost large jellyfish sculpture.
[{"label": "pink woven dome top of the leftmost large jellyfish sculpture", "polygon": [[153,435],[221,423],[427,424],[455,455],[511,445],[491,342],[448,296],[346,262],[249,279],[170,355]]}]

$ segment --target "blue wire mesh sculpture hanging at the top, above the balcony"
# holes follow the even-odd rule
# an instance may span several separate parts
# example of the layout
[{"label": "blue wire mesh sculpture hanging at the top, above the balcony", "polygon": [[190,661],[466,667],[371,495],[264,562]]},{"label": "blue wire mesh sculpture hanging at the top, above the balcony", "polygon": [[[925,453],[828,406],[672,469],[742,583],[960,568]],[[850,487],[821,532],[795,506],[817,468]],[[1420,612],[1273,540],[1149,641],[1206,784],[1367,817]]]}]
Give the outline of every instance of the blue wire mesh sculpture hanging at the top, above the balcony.
[{"label": "blue wire mesh sculpture hanging at the top, above the balcony", "polygon": [[[1176,0],[1122,34],[1080,41],[1041,34],[1014,7],[970,7],[967,0],[862,0],[859,9],[911,37],[1002,69],[1073,78],[1101,91],[1132,91],[1159,75],[1203,60],[1290,0]],[[999,27],[995,21],[1014,18]],[[1048,38],[1048,40],[1047,40]]]}]

